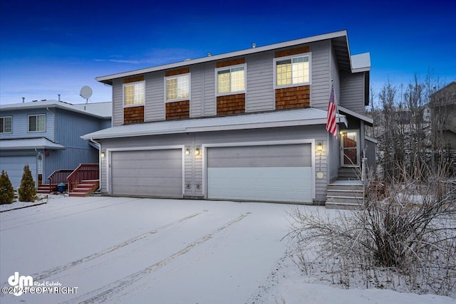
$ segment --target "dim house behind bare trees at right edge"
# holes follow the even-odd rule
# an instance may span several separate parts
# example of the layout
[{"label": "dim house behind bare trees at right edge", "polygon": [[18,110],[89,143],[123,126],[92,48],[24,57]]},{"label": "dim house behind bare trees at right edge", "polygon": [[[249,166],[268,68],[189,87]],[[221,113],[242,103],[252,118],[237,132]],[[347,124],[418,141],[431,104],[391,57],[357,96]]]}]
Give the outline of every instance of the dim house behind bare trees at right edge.
[{"label": "dim house behind bare trees at right edge", "polygon": [[433,137],[456,150],[456,82],[430,95],[430,107]]}]

